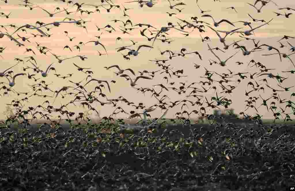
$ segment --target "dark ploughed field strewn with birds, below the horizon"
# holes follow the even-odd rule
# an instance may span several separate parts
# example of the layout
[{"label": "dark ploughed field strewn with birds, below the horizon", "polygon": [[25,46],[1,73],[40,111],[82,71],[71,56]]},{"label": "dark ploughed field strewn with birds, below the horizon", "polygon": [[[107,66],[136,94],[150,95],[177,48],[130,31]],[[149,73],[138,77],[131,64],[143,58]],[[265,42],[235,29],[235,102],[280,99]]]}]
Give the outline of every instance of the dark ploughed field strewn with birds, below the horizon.
[{"label": "dark ploughed field strewn with birds, below the horizon", "polygon": [[1,129],[4,190],[286,190],[295,182],[293,124],[40,126]]}]

